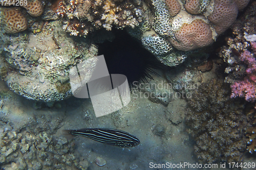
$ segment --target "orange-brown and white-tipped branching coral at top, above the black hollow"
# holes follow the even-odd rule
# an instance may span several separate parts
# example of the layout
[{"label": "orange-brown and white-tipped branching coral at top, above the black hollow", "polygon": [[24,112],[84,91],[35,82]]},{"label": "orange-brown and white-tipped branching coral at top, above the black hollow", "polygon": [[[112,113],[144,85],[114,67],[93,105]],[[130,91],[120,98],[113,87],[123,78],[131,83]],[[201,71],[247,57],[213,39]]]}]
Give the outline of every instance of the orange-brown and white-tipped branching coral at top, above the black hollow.
[{"label": "orange-brown and white-tipped branching coral at top, above the black hollow", "polygon": [[140,3],[131,0],[63,0],[56,13],[64,19],[64,30],[71,35],[87,36],[100,28],[110,31],[113,25],[117,28],[134,28],[142,21],[143,10]]}]

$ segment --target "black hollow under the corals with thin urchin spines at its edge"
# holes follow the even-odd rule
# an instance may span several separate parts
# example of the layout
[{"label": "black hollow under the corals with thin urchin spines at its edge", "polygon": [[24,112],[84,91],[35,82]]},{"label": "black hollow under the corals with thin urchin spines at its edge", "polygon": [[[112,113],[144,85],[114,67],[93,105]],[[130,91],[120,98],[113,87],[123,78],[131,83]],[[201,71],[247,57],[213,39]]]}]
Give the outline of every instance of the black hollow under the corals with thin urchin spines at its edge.
[{"label": "black hollow under the corals with thin urchin spines at its edge", "polygon": [[[156,74],[161,63],[150,52],[126,33],[125,30],[112,29],[115,39],[97,43],[99,53],[104,55],[110,74],[122,74],[132,85],[133,82],[147,83]],[[157,75],[157,74],[156,74]]]}]

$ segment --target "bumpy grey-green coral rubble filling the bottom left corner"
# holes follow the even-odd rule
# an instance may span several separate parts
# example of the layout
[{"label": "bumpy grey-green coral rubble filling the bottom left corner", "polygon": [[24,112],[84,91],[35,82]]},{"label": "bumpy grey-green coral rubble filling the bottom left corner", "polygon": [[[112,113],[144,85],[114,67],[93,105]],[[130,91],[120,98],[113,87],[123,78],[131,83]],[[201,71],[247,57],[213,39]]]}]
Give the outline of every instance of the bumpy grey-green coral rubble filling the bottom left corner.
[{"label": "bumpy grey-green coral rubble filling the bottom left corner", "polygon": [[0,129],[0,165],[4,169],[87,169],[89,162],[73,154],[75,144],[64,137]]}]

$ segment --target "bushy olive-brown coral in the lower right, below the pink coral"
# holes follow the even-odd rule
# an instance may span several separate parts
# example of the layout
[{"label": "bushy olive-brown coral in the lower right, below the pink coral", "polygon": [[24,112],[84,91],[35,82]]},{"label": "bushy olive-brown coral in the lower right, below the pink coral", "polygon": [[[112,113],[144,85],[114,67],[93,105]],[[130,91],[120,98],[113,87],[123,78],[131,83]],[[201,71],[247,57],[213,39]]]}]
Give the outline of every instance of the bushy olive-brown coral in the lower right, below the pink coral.
[{"label": "bushy olive-brown coral in the lower right, below the pink coral", "polygon": [[223,80],[202,83],[188,99],[188,133],[196,140],[200,162],[241,162],[246,149],[245,129],[249,127],[244,103],[230,99],[229,85]]}]

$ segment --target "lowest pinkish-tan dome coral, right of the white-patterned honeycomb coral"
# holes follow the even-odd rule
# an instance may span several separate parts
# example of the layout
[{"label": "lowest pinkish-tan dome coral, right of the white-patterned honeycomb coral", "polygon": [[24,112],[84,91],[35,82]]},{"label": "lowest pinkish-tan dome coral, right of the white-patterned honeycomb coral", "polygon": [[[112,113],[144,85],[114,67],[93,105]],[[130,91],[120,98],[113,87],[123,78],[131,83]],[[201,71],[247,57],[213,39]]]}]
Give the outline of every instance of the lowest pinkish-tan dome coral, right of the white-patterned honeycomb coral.
[{"label": "lowest pinkish-tan dome coral, right of the white-patterned honeycomb coral", "polygon": [[212,39],[210,26],[201,19],[196,19],[190,24],[184,23],[179,31],[175,32],[175,38],[169,41],[182,51],[190,51],[196,48],[210,45]]}]

